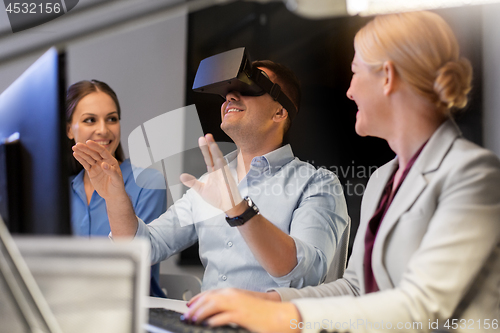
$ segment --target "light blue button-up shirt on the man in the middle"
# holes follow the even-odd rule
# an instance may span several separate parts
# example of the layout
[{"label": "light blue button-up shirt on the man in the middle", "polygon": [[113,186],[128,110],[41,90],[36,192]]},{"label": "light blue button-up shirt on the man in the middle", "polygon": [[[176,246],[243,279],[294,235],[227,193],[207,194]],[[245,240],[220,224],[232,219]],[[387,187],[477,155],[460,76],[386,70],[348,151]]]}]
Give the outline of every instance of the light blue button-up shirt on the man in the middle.
[{"label": "light blue button-up shirt on the man in the middle", "polygon": [[[237,153],[226,156],[236,181]],[[206,174],[200,180],[205,178]],[[153,262],[199,240],[205,267],[203,290],[237,287],[266,291],[323,282],[349,220],[337,176],[294,158],[291,147],[286,145],[255,157],[238,189],[242,197],[248,195],[255,202],[263,217],[294,239],[298,263],[287,275],[274,277],[267,273],[238,228],[230,227],[225,214],[194,190],[188,190],[149,225],[139,219],[136,236],[150,239]]]}]

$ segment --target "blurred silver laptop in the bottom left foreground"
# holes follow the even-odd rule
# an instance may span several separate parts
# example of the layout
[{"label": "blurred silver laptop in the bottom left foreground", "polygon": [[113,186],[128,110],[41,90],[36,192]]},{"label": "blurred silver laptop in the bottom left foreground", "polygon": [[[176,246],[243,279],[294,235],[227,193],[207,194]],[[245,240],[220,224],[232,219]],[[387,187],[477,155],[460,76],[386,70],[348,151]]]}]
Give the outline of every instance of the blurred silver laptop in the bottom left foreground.
[{"label": "blurred silver laptop in the bottom left foreground", "polygon": [[[143,332],[150,269],[146,240],[14,240],[62,332]],[[3,288],[0,283],[1,331],[16,332],[23,318],[9,311]]]}]

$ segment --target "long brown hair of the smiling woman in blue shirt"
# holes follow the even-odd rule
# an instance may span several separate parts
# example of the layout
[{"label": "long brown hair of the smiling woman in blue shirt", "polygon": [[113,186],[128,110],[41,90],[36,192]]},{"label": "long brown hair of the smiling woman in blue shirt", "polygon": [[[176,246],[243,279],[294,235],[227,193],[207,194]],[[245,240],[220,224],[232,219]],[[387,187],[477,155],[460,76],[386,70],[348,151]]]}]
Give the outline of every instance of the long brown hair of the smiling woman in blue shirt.
[{"label": "long brown hair of the smiling woman in blue shirt", "polygon": [[[94,93],[94,92],[103,92],[107,94],[113,102],[115,102],[116,110],[118,112],[118,119],[121,118],[121,109],[120,103],[118,102],[118,97],[116,97],[116,93],[108,86],[106,83],[97,81],[97,80],[84,80],[79,81],[73,85],[71,85],[66,92],[66,123],[71,125],[73,120],[73,113],[75,112],[76,106],[85,96]],[[73,151],[71,147],[73,147],[76,143],[74,139],[68,139],[70,141],[69,144],[69,166],[70,166],[70,174],[75,175],[79,173],[83,166],[73,157]],[[115,158],[118,162],[123,162],[125,159],[125,155],[123,153],[123,148],[121,142],[118,144],[118,147],[115,151]]]}]

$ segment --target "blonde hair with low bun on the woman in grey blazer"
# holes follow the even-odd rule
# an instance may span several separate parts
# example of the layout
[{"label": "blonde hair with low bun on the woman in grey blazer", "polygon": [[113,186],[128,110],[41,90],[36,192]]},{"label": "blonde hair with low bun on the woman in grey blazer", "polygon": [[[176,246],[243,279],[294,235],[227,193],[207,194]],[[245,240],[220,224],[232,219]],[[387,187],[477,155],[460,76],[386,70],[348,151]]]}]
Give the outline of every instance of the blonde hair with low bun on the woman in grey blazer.
[{"label": "blonde hair with low bun on the woman in grey blazer", "polygon": [[440,112],[467,104],[472,67],[460,58],[455,34],[436,13],[377,16],[356,34],[354,49],[373,68],[392,61],[401,79]]}]

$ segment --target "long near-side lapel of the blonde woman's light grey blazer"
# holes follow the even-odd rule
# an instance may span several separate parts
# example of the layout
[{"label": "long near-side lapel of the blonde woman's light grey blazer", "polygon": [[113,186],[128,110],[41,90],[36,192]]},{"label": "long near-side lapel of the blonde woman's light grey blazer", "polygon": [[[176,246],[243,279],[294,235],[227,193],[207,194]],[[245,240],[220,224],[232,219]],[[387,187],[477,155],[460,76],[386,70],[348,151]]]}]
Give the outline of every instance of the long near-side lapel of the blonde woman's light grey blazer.
[{"label": "long near-side lapel of the blonde woman's light grey blazer", "polygon": [[403,181],[403,184],[401,184],[398,193],[387,210],[377,233],[372,253],[373,273],[381,289],[394,287],[383,263],[383,252],[386,248],[385,242],[387,236],[399,221],[401,215],[412,207],[420,194],[424,191],[427,186],[425,174],[436,171],[439,168],[441,162],[458,136],[460,136],[460,130],[451,119],[444,122],[436,132],[434,132],[406,176],[406,179]]}]

